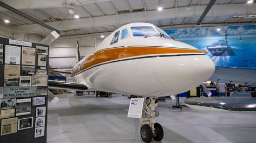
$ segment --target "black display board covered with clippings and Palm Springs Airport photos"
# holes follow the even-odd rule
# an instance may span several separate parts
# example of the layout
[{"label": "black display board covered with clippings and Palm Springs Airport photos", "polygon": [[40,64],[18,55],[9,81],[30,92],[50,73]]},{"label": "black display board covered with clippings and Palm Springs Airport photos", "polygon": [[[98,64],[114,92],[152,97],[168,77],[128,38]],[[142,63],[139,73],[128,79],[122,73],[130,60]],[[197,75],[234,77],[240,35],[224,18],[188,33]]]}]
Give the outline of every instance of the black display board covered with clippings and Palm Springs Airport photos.
[{"label": "black display board covered with clippings and Palm Springs Airport photos", "polygon": [[47,142],[48,49],[0,38],[0,142]]}]

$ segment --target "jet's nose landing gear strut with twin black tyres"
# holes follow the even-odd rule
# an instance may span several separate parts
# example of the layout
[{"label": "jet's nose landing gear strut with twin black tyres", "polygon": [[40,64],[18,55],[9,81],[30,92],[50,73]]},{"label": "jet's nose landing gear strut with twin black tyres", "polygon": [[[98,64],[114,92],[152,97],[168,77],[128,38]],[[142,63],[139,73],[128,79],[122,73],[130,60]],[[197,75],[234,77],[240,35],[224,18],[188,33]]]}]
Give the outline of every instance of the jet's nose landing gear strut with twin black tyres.
[{"label": "jet's nose landing gear strut with twin black tyres", "polygon": [[143,104],[143,112],[141,121],[141,139],[144,142],[156,141],[163,139],[163,128],[159,123],[155,123],[155,117],[159,116],[159,112],[155,111],[156,97],[147,97]]}]

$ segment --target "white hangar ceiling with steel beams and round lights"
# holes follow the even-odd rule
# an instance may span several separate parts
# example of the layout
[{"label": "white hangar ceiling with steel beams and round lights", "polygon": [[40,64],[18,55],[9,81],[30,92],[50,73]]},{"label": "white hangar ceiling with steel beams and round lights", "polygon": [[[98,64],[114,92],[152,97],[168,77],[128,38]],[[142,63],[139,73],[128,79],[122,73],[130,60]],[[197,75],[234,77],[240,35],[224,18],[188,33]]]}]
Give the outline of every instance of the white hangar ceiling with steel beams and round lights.
[{"label": "white hangar ceiling with steel beams and round lights", "polygon": [[[148,22],[161,28],[194,27],[209,0],[3,0],[27,15],[61,31],[61,36],[111,32],[131,22]],[[75,14],[68,13],[74,6]],[[217,0],[202,26],[244,25],[256,22],[255,3],[247,0]],[[157,7],[162,6],[162,11]],[[46,28],[0,8],[0,18],[8,18],[14,34],[47,35]]]}]

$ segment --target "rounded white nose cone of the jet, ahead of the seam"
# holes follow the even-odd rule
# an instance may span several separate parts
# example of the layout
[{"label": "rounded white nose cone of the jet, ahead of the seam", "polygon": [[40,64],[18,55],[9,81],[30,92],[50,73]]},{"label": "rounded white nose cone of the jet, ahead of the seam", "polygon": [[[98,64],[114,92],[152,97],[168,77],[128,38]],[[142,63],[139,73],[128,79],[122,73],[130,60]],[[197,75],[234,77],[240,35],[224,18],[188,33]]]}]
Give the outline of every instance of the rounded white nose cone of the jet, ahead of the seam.
[{"label": "rounded white nose cone of the jet, ahead of the seam", "polygon": [[163,56],[154,58],[154,70],[164,87],[181,93],[205,82],[215,65],[207,55]]}]

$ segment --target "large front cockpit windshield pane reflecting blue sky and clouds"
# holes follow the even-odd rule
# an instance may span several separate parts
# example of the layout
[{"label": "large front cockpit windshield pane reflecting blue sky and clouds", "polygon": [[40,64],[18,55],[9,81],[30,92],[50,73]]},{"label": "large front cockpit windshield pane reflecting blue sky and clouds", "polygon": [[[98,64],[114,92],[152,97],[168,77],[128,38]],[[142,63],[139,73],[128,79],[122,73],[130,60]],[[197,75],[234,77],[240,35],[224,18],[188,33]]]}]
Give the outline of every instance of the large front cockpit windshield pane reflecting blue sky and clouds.
[{"label": "large front cockpit windshield pane reflecting blue sky and clouds", "polygon": [[159,36],[159,34],[155,31],[152,26],[138,26],[138,27],[130,27],[133,32],[133,36],[135,37],[152,37]]}]

